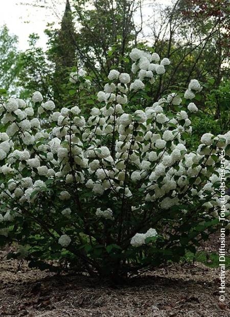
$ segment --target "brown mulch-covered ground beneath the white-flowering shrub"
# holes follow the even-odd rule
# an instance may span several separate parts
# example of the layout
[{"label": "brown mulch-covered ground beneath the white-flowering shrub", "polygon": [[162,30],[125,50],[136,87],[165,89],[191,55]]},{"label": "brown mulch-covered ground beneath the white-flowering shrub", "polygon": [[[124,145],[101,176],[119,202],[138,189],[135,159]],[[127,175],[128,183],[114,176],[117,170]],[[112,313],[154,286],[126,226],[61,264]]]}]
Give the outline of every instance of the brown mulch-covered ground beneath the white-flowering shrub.
[{"label": "brown mulch-covered ground beneath the white-flowering shrub", "polygon": [[87,276],[56,276],[29,269],[27,263],[18,270],[19,261],[6,260],[7,252],[9,248],[0,252],[3,317],[230,316],[229,284],[225,304],[220,305],[219,270],[200,263],[158,268],[114,288]]}]

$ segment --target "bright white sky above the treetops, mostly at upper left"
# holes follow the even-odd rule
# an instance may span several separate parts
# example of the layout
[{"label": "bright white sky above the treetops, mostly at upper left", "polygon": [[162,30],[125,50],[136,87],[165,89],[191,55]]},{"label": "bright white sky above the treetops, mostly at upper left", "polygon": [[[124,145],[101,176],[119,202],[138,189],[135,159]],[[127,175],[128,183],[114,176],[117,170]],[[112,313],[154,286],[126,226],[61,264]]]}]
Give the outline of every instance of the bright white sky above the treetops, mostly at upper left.
[{"label": "bright white sky above the treetops, mostly at upper left", "polygon": [[[10,30],[11,34],[18,37],[18,48],[22,51],[29,48],[28,36],[31,33],[37,33],[40,40],[38,46],[45,48],[47,37],[43,30],[48,22],[54,22],[58,25],[65,8],[65,0],[43,0],[48,8],[32,6],[36,0],[2,0],[0,10],[0,27],[4,24]],[[148,9],[149,0],[144,0],[146,4],[143,7],[144,15],[151,14]],[[160,3],[169,4],[171,0],[159,0]],[[29,5],[25,5],[27,3]]]}]

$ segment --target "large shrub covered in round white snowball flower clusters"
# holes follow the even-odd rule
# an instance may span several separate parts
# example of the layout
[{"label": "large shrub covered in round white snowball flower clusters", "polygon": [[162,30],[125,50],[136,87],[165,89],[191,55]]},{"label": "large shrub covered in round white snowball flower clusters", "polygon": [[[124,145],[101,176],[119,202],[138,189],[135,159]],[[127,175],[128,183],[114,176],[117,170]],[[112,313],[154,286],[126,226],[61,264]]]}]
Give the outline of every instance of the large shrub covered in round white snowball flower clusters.
[{"label": "large shrub covered in round white snowball flower clusters", "polygon": [[[55,111],[39,92],[32,105],[2,100],[0,241],[20,245],[9,257],[116,278],[179,261],[215,230],[230,131],[205,133],[189,152],[200,83],[144,109],[146,85],[170,61],[137,49],[130,58],[134,79],[111,70],[88,118],[79,104]],[[78,96],[90,91],[83,70],[70,81]]]}]

